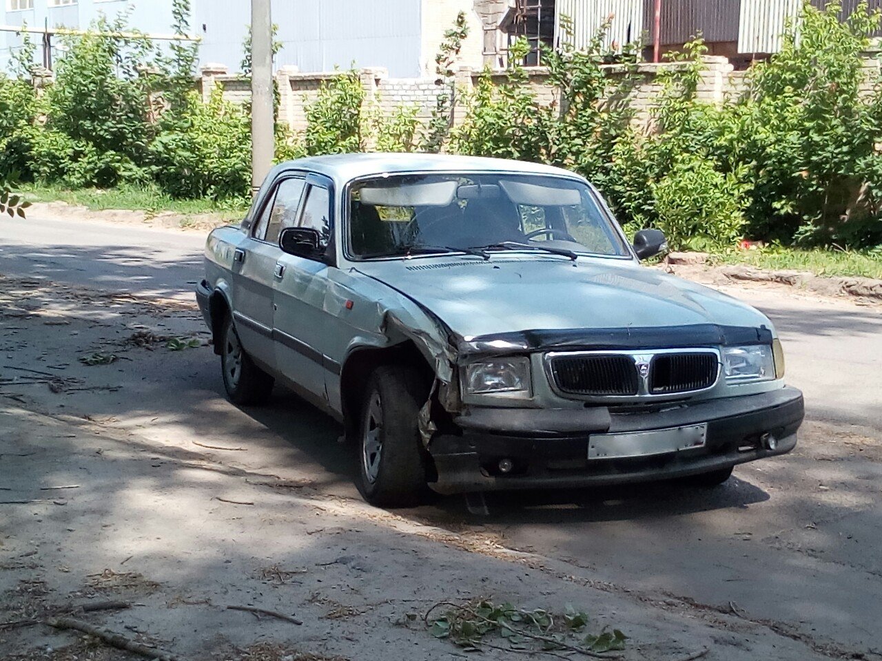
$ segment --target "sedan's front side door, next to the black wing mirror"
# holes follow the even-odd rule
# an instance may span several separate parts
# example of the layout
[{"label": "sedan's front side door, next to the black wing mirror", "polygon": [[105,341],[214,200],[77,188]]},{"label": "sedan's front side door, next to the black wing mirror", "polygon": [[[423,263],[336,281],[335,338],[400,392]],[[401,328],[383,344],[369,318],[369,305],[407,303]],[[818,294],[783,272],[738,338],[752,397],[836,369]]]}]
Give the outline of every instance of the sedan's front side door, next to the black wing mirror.
[{"label": "sedan's front side door, next to the black wing mirror", "polygon": [[326,401],[325,356],[337,319],[325,312],[329,269],[333,266],[333,188],[330,180],[309,175],[294,227],[310,227],[321,237],[315,259],[282,254],[275,269],[276,366],[281,375]]}]

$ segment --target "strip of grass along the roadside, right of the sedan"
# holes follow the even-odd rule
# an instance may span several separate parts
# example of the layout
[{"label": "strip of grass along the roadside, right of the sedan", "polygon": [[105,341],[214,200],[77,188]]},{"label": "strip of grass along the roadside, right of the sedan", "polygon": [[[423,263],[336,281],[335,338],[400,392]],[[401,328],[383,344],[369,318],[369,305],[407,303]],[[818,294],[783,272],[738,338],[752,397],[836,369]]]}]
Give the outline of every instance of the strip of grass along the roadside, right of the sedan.
[{"label": "strip of grass along the roadside, right of the sedan", "polygon": [[750,264],[770,271],[809,271],[819,276],[882,279],[882,248],[865,251],[766,248],[712,257],[714,264]]}]

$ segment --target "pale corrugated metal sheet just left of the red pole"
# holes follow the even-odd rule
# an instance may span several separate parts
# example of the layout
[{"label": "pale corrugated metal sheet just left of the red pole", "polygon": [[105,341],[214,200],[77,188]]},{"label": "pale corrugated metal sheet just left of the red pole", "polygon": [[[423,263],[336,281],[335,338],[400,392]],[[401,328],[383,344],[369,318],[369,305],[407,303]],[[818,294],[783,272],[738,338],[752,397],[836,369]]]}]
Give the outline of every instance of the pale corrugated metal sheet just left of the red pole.
[{"label": "pale corrugated metal sheet just left of the red pole", "polygon": [[[576,48],[585,48],[603,22],[613,15],[609,32],[603,41],[604,48],[618,50],[640,41],[645,29],[642,0],[557,0],[555,4],[555,34],[558,39],[572,43]],[[572,34],[564,34],[560,19],[572,19]]]}]

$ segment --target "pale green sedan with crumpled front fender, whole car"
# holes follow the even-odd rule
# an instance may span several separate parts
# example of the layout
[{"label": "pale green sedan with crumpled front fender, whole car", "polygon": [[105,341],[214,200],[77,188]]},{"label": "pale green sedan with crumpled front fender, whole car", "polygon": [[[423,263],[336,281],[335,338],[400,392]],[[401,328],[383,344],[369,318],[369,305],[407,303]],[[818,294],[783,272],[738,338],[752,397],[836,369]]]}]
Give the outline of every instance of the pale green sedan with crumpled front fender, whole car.
[{"label": "pale green sedan with crumpled front fender, whole car", "polygon": [[197,297],[230,399],[279,382],[340,420],[377,505],[713,486],[793,449],[803,397],[766,316],[640,265],[664,248],[556,167],[325,156],[213,231]]}]

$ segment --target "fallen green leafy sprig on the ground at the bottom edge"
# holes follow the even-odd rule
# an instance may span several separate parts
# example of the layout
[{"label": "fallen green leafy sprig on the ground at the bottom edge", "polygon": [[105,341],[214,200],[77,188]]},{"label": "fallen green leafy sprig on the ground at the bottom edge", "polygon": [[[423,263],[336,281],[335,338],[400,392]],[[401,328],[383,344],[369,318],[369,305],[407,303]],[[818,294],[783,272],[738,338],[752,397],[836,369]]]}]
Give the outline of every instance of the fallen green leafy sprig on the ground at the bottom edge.
[{"label": "fallen green leafy sprig on the ground at the bottom edge", "polygon": [[[430,619],[432,612],[442,606],[444,613]],[[572,606],[557,616],[542,609],[528,611],[508,603],[497,605],[488,599],[464,605],[443,602],[426,613],[424,620],[431,635],[448,639],[467,651],[481,650],[483,646],[526,652],[566,650],[595,656],[624,650],[627,640],[619,629],[603,628],[598,634],[586,633],[587,613]]]}]

